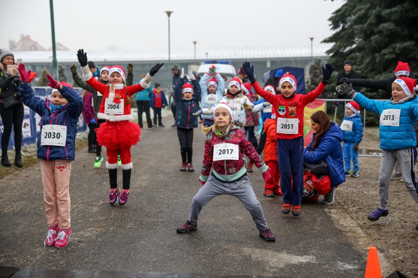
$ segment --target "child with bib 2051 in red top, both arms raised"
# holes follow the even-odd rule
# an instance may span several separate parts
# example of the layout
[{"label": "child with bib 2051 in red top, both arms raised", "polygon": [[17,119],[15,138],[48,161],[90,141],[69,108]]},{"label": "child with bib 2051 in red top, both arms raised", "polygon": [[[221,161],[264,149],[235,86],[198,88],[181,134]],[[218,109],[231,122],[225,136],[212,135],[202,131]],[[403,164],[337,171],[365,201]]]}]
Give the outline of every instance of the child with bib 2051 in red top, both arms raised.
[{"label": "child with bib 2051 in red top, both arms raised", "polygon": [[[242,67],[248,74],[256,93],[267,100],[276,112],[276,138],[278,163],[283,192],[282,212],[288,214],[292,205],[292,214],[300,215],[300,203],[303,196],[303,114],[305,106],[318,97],[328,83],[334,68],[330,64],[322,67],[323,78],[318,87],[310,93],[295,93],[296,78],[285,74],[279,81],[282,94],[274,95],[264,91],[254,77],[254,66],[245,62]],[[289,167],[290,166],[290,167]],[[293,185],[292,185],[293,182]]]}]

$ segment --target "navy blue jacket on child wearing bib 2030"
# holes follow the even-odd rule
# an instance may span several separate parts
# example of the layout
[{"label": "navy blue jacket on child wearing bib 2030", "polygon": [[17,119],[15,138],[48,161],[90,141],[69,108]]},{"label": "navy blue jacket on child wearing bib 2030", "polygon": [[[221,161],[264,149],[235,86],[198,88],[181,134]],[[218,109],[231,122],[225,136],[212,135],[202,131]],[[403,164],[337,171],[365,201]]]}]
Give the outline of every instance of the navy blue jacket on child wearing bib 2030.
[{"label": "navy blue jacket on child wearing bib 2030", "polygon": [[[41,145],[41,135],[38,137],[38,158],[46,161],[52,160],[71,160],[76,156],[76,135],[78,117],[81,115],[83,101],[81,96],[71,87],[65,87],[59,92],[68,100],[66,107],[54,114],[49,109],[50,101],[35,96],[29,83],[21,84],[18,87],[20,99],[23,103],[36,114],[41,116],[41,124],[58,124],[67,126],[67,140],[65,146]],[[42,128],[42,127],[41,127]]]}]

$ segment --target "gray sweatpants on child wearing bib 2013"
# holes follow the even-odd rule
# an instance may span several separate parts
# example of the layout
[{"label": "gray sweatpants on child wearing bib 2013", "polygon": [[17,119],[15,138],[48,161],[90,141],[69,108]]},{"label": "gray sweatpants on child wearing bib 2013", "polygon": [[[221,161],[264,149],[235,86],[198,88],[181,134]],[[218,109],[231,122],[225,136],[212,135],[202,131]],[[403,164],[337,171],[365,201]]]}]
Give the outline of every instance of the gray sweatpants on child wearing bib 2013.
[{"label": "gray sweatpants on child wearing bib 2013", "polygon": [[380,208],[386,209],[389,203],[389,185],[396,159],[402,173],[402,179],[409,194],[418,203],[416,192],[416,182],[414,173],[414,152],[412,148],[400,149],[396,151],[382,150],[379,173],[379,203]]}]

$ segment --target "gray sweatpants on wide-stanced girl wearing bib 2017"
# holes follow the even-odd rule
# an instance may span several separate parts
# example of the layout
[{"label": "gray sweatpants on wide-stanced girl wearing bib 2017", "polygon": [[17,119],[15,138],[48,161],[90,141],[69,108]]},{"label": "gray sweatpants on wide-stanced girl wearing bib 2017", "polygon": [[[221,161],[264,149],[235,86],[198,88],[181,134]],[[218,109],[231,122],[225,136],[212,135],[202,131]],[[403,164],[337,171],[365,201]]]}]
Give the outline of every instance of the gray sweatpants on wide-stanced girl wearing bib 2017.
[{"label": "gray sweatpants on wide-stanced girl wearing bib 2017", "polygon": [[189,222],[192,224],[196,223],[202,208],[218,195],[232,195],[237,197],[245,209],[250,212],[257,229],[259,231],[267,229],[267,223],[265,223],[260,202],[257,200],[247,176],[237,182],[222,183],[210,175],[205,185],[193,197],[190,204]]}]

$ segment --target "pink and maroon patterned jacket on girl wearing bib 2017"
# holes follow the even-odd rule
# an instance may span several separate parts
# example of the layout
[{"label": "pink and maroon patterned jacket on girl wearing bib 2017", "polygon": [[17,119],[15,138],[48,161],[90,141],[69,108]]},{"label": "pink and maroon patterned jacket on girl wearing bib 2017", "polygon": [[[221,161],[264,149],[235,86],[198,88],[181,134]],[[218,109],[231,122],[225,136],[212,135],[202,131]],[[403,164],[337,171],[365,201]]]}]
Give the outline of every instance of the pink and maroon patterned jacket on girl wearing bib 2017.
[{"label": "pink and maroon patterned jacket on girl wearing bib 2017", "polygon": [[[213,146],[220,143],[238,145],[238,160],[213,161]],[[259,168],[261,173],[267,171],[268,166],[261,161],[253,145],[247,140],[244,132],[239,127],[231,128],[225,138],[219,138],[214,132],[210,133],[205,140],[205,154],[203,156],[200,180],[206,182],[210,168],[213,167],[212,174],[218,179],[226,182],[235,181],[247,171],[242,160],[244,154]]]}]

